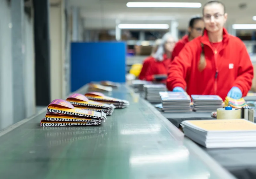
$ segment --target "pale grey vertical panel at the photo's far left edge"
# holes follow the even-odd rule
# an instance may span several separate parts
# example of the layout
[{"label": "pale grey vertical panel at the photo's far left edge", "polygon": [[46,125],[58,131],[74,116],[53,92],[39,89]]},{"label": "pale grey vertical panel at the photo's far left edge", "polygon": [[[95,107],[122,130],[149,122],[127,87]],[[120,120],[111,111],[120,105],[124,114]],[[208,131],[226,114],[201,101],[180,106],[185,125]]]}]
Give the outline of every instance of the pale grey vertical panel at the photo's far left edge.
[{"label": "pale grey vertical panel at the photo's far left edge", "polygon": [[0,129],[3,129],[13,124],[14,107],[11,8],[3,0],[0,0],[0,32]]}]

